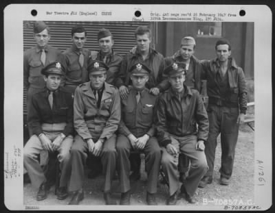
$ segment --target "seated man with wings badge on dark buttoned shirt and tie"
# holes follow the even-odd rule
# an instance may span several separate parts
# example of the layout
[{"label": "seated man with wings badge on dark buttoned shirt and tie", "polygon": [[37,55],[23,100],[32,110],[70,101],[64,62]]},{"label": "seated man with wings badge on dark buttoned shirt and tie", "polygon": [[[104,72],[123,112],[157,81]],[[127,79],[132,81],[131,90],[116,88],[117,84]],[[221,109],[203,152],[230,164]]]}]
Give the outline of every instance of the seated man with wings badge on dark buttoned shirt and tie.
[{"label": "seated man with wings badge on dark buttoned shirt and tie", "polygon": [[147,194],[148,205],[157,205],[157,178],[159,175],[160,148],[155,136],[154,114],[157,96],[152,95],[145,87],[150,68],[137,62],[129,69],[132,86],[126,99],[121,100],[122,119],[116,143],[118,151],[118,174],[121,186],[121,205],[130,205],[130,169],[131,151],[139,151],[146,155]]}]

